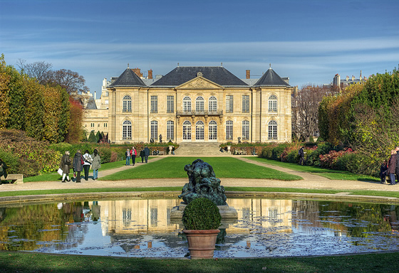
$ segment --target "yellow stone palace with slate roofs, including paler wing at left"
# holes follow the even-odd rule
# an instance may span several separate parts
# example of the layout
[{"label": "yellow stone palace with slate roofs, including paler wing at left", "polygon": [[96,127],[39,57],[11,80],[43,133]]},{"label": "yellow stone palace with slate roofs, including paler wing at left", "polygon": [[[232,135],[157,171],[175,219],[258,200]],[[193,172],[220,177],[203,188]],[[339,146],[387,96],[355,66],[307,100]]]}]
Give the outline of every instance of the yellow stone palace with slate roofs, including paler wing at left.
[{"label": "yellow stone palace with slate roofs, including paler wing at left", "polygon": [[226,68],[180,67],[143,78],[127,68],[104,79],[83,126],[108,133],[111,143],[291,141],[291,87],[269,68],[259,79],[239,79]]}]

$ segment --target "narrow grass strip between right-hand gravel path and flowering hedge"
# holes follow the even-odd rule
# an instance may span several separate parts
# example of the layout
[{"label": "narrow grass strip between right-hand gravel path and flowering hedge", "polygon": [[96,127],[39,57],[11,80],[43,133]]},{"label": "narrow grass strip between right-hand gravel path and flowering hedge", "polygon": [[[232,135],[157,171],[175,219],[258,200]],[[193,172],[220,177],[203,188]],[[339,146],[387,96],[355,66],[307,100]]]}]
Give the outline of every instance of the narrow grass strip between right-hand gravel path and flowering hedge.
[{"label": "narrow grass strip between right-hand gravel path and flowering hedge", "polygon": [[352,181],[380,181],[380,178],[375,178],[373,176],[366,176],[364,174],[351,173],[349,171],[337,171],[331,170],[330,168],[318,168],[315,166],[301,166],[299,164],[281,162],[271,159],[261,159],[254,156],[246,156],[246,159],[251,159],[261,163],[270,164],[273,166],[280,166],[284,168],[289,168],[294,171],[304,171],[305,173],[313,173],[318,176],[323,176],[331,180],[352,180]]}]

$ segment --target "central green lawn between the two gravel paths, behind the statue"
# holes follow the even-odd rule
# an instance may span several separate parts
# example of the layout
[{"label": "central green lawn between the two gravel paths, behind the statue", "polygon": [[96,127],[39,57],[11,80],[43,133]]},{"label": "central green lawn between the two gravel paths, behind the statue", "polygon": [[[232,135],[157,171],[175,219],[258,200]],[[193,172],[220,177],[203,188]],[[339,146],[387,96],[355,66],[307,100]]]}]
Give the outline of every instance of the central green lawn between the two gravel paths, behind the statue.
[{"label": "central green lawn between the two gravel paths, behind the statue", "polygon": [[[101,177],[100,180],[187,178],[187,173],[184,170],[185,165],[192,164],[192,161],[195,161],[195,159],[197,159],[197,157],[165,157],[156,162],[143,165],[140,164],[136,168]],[[217,178],[259,178],[284,181],[303,179],[300,176],[294,176],[289,173],[276,171],[272,168],[249,164],[232,157],[204,157],[201,159],[212,166]]]}]

